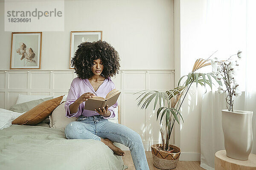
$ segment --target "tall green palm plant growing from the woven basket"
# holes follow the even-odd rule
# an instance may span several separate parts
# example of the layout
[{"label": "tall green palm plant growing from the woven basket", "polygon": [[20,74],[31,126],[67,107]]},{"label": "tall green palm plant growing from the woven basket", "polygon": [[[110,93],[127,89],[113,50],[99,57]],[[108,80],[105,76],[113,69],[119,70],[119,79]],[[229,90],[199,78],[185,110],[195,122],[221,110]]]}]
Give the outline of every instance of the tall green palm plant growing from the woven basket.
[{"label": "tall green palm plant growing from the woven basket", "polygon": [[[160,128],[160,133],[161,133],[162,143],[163,143],[161,147],[162,150],[168,151],[170,149],[169,139],[172,134],[175,121],[180,125],[178,115],[180,115],[184,123],[183,117],[180,113],[180,107],[182,106],[183,101],[191,85],[193,83],[196,83],[196,86],[197,86],[199,83],[201,86],[204,86],[204,87],[206,87],[206,85],[209,85],[209,87],[212,89],[212,84],[214,85],[214,83],[212,82],[211,77],[213,77],[216,80],[215,74],[212,74],[212,73],[204,74],[204,73],[195,72],[200,68],[203,68],[207,65],[211,65],[211,63],[209,62],[210,60],[209,58],[197,59],[192,69],[192,72],[189,73],[188,75],[181,77],[179,79],[177,87],[175,87],[174,89],[171,89],[165,92],[160,92],[155,90],[143,90],[135,93],[135,94],[142,93],[136,99],[136,100],[139,100],[137,103],[137,106],[139,107],[140,105],[142,105],[141,109],[148,108],[148,105],[153,101],[154,110],[155,110],[157,106],[157,102],[159,102],[159,108],[157,109],[157,119],[158,117],[160,117],[160,114],[161,114],[160,125],[162,123],[162,119],[164,115],[166,120],[165,130],[163,130],[162,126]],[[182,81],[184,81],[183,80],[184,78],[186,78],[186,81],[183,82],[183,84],[181,85]],[[216,80],[216,82],[218,82],[219,85],[222,85],[221,81]],[[165,134],[166,134],[166,140],[164,138]]]}]

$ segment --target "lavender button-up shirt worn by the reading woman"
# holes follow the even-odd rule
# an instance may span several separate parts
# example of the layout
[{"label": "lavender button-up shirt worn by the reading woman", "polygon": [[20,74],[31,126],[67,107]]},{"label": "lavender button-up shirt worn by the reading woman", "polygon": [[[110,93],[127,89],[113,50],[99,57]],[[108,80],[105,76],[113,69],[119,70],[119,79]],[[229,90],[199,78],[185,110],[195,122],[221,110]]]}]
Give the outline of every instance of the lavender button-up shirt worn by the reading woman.
[{"label": "lavender button-up shirt worn by the reading woman", "polygon": [[[79,105],[78,111],[76,113],[70,113],[70,105],[76,101],[82,94],[91,92],[93,94],[96,94],[96,96],[100,97],[106,97],[108,92],[111,90],[115,89],[115,84],[112,82],[110,78],[106,78],[104,82],[99,86],[97,91],[93,89],[93,86],[90,84],[88,79],[81,79],[79,77],[76,77],[73,79],[70,85],[70,90],[67,95],[67,101],[65,102],[65,110],[66,110],[66,117],[71,118],[71,117],[79,117],[79,116],[95,116],[99,115],[96,111],[89,111],[89,110],[84,110],[84,103],[82,102]],[[108,108],[110,111],[110,116],[109,117],[104,117],[104,119],[109,119],[115,117],[114,113],[114,108],[116,108],[118,105],[117,101],[114,105]]]}]

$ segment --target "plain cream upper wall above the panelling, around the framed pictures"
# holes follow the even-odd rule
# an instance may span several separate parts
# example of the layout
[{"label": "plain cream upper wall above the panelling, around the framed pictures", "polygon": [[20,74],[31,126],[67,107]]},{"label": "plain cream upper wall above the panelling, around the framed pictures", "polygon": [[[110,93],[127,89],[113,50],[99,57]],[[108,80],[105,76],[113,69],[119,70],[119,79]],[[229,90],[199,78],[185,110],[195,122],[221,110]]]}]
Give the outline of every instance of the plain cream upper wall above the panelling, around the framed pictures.
[{"label": "plain cream upper wall above the panelling, around the framed pictures", "polygon": [[[102,40],[119,52],[121,69],[174,68],[173,0],[65,0],[64,3],[65,31],[43,32],[41,69],[68,69],[70,31],[94,30],[103,31]],[[9,69],[11,32],[4,31],[3,2],[0,23],[0,69]]]}]

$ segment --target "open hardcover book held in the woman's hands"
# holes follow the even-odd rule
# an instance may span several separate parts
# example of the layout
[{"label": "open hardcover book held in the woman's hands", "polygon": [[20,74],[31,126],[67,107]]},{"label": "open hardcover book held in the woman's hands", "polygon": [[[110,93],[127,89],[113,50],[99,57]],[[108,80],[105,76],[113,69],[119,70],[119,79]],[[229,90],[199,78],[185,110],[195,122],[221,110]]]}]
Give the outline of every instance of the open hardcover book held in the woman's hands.
[{"label": "open hardcover book held in the woman's hands", "polygon": [[106,99],[99,96],[87,98],[88,100],[84,104],[84,110],[95,111],[94,109],[99,110],[99,108],[106,107],[106,105],[109,108],[116,103],[120,93],[120,91],[113,89],[107,94]]}]

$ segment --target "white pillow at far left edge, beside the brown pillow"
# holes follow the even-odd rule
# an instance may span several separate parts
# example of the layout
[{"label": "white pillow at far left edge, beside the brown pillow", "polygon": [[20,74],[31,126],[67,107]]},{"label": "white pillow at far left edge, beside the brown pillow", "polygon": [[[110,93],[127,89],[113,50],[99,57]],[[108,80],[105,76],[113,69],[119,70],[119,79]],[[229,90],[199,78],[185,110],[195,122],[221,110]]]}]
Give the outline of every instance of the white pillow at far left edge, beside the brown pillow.
[{"label": "white pillow at far left edge, beside the brown pillow", "polygon": [[0,108],[0,129],[10,127],[12,125],[12,121],[20,115],[22,115],[23,113],[13,112]]}]

